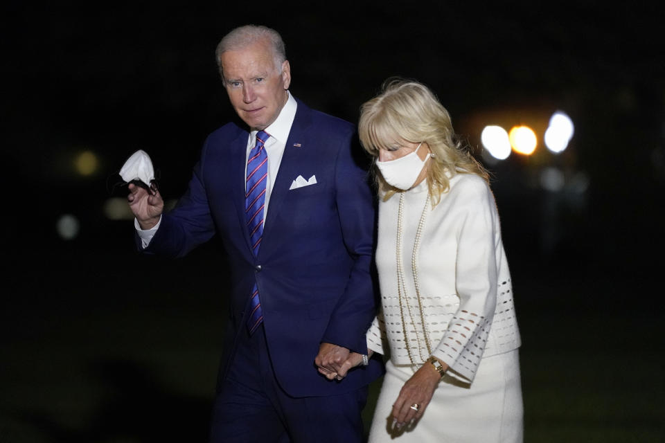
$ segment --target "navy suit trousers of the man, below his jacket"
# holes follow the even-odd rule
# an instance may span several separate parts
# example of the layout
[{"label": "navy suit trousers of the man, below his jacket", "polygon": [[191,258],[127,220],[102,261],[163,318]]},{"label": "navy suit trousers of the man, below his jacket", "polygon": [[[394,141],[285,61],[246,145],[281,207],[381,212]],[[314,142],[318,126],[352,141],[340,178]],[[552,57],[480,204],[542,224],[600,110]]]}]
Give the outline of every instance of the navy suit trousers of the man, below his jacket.
[{"label": "navy suit trousers of the man, below his jacket", "polygon": [[291,397],[275,377],[263,324],[251,336],[246,328],[240,335],[215,398],[211,443],[362,442],[366,386],[343,395]]}]

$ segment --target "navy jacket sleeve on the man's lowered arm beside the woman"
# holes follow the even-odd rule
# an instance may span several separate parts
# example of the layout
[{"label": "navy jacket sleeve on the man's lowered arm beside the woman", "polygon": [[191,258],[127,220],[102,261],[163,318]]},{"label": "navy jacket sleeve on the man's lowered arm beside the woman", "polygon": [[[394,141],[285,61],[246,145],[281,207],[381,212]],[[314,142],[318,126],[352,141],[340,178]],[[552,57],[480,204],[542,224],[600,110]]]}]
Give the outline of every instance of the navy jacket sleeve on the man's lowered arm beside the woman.
[{"label": "navy jacket sleeve on the man's lowered arm beside the woman", "polygon": [[360,162],[362,154],[351,143],[352,133],[339,150],[335,165],[336,204],[344,245],[353,259],[346,289],[332,312],[322,342],[367,353],[365,334],[376,315],[375,279],[372,257],[375,244],[375,201],[369,175]]}]

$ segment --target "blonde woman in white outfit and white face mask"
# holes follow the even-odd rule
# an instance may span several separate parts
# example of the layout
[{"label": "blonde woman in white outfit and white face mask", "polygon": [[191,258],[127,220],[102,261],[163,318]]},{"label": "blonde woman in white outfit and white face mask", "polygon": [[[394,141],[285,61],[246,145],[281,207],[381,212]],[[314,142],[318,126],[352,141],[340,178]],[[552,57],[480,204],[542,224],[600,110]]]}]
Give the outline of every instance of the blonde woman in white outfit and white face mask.
[{"label": "blonde woman in white outfit and white face mask", "polygon": [[368,354],[390,355],[370,442],[522,441],[520,333],[488,173],[418,82],[384,84],[358,129],[380,196]]}]

